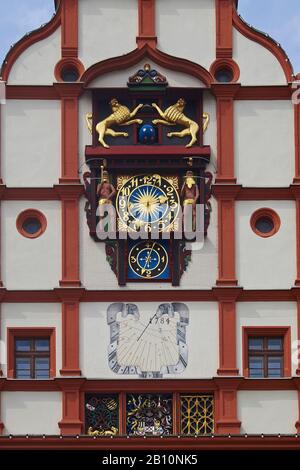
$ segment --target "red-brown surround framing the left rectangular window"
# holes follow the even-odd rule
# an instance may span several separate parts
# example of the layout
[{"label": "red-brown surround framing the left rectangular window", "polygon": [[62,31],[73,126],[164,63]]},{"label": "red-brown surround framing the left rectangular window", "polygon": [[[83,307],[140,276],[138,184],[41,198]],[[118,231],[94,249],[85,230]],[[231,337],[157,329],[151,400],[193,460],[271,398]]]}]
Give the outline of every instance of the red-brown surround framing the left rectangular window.
[{"label": "red-brown surround framing the left rectangular window", "polygon": [[56,376],[56,336],[55,328],[7,328],[7,378],[15,378],[15,338],[26,337],[49,337],[50,338],[50,378]]}]

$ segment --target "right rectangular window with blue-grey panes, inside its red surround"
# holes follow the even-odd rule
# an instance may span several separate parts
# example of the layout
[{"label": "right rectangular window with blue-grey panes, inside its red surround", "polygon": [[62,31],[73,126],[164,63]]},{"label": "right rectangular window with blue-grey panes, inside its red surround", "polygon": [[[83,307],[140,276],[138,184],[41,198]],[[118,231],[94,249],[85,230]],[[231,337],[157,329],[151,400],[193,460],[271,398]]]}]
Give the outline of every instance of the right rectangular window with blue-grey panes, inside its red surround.
[{"label": "right rectangular window with blue-grey panes, inside its red surround", "polygon": [[248,338],[249,377],[283,377],[283,337]]}]

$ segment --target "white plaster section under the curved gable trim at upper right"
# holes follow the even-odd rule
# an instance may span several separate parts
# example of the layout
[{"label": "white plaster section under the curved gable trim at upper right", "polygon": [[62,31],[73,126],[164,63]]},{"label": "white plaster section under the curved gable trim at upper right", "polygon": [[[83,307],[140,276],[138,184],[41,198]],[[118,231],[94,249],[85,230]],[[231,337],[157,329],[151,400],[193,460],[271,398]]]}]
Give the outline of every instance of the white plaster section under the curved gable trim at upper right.
[{"label": "white plaster section under the curved gable trim at upper right", "polygon": [[286,84],[284,71],[272,52],[246,38],[235,28],[233,28],[233,59],[239,65],[239,82],[242,85]]}]

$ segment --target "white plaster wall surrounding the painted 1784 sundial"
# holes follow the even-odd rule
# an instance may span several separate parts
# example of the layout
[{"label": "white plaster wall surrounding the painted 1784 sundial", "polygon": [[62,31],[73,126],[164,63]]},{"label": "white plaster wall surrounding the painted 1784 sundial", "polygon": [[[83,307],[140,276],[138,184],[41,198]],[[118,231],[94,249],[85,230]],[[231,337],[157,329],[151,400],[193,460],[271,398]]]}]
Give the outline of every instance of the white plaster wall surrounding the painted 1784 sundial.
[{"label": "white plaster wall surrounding the painted 1784 sundial", "polygon": [[[170,301],[172,299],[170,298]],[[150,319],[163,302],[137,303],[141,317]],[[110,303],[80,304],[80,368],[87,378],[128,379],[136,375],[118,375],[108,365],[107,349],[110,330],[107,307]],[[218,368],[218,304],[216,302],[186,302],[189,325],[186,327],[189,348],[188,365],[182,374],[165,378],[196,379],[216,375]]]}]

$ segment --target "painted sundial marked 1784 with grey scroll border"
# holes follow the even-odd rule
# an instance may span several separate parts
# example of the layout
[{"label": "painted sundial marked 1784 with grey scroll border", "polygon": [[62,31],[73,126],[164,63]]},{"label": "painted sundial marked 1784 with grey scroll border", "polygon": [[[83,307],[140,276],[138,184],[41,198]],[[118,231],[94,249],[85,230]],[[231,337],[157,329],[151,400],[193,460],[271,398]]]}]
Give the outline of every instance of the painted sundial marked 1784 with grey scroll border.
[{"label": "painted sundial marked 1784 with grey scroll border", "polygon": [[159,378],[185,370],[189,323],[185,304],[165,303],[156,312],[140,312],[135,304],[113,303],[107,309],[107,323],[108,364],[114,373]]}]

